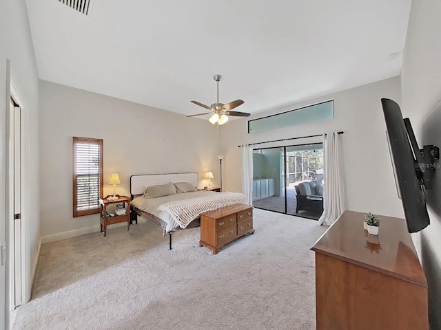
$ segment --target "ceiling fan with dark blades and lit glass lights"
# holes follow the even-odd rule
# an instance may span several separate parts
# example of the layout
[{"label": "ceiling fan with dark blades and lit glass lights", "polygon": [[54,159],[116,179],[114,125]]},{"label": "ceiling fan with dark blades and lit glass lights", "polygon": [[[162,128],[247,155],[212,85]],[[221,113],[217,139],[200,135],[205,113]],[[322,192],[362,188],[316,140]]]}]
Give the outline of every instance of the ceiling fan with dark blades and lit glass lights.
[{"label": "ceiling fan with dark blades and lit glass lights", "polygon": [[[220,74],[216,74],[213,76],[213,79],[216,81],[218,85],[218,100],[216,103],[213,103],[210,107],[202,104],[198,101],[192,101],[194,104],[198,104],[198,106],[203,107],[205,109],[211,110],[211,112],[206,113],[198,113],[196,115],[209,115],[211,114],[211,117],[209,118],[209,122],[212,124],[216,124],[216,122],[219,125],[225,124],[225,122],[228,121],[228,116],[233,115],[236,117],[248,117],[250,113],[246,112],[239,112],[239,111],[230,111],[234,109],[235,107],[238,107],[240,104],[243,104],[243,100],[235,100],[233,102],[229,102],[227,104],[219,103],[219,81],[222,79],[222,76]],[[187,115],[187,117],[194,117],[195,115]]]}]

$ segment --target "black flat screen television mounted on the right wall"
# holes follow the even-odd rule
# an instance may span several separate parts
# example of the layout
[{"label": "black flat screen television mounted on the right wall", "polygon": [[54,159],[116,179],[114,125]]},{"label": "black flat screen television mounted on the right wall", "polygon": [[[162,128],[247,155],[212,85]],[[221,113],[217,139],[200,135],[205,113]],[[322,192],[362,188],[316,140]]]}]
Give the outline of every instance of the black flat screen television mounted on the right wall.
[{"label": "black flat screen television mounted on the right wall", "polygon": [[402,201],[409,232],[419,232],[429,225],[427,214],[424,162],[408,118],[402,118],[400,106],[382,98],[381,104],[387,126],[387,140],[391,153],[398,197]]}]

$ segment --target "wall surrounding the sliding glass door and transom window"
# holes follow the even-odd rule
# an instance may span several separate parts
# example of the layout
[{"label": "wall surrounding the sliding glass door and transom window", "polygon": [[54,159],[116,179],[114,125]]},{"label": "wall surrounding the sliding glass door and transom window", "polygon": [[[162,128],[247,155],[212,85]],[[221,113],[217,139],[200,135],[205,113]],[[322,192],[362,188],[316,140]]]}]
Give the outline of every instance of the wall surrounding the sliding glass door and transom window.
[{"label": "wall surrounding the sliding glass door and transom window", "polygon": [[[334,119],[331,120],[252,134],[246,133],[246,119],[234,120],[222,126],[220,133],[222,151],[225,154],[223,162],[225,164],[225,188],[240,191],[241,148],[238,148],[239,144],[316,135],[331,130],[345,131],[341,136],[341,141],[347,209],[403,217],[401,202],[398,199],[393,179],[385,134],[386,126],[380,103],[380,98],[384,97],[400,102],[399,77],[249,117],[249,119],[259,118],[263,115],[334,99]],[[321,140],[322,137],[315,137],[289,140],[283,144],[304,144],[321,142]],[[258,144],[256,148],[275,145],[274,143]]]}]

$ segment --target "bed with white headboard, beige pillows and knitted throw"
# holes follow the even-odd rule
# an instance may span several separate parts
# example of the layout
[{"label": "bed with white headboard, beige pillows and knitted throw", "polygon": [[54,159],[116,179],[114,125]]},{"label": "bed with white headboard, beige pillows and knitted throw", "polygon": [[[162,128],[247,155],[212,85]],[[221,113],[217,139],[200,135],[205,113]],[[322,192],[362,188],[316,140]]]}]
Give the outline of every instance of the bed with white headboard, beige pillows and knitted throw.
[{"label": "bed with white headboard, beige pillows and knitted throw", "polygon": [[[236,203],[247,203],[240,192],[201,190],[198,173],[132,175],[132,214],[160,225],[163,235],[199,225],[199,214]],[[137,223],[137,217],[131,217]]]}]

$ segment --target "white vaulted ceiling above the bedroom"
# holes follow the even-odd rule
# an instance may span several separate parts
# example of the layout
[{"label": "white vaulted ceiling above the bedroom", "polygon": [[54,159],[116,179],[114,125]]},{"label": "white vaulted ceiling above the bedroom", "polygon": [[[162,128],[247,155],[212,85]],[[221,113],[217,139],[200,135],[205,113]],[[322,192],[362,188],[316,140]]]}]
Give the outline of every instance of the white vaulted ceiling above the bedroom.
[{"label": "white vaulted ceiling above the bedroom", "polygon": [[[186,115],[258,113],[400,74],[411,0],[26,0],[39,78]],[[391,53],[399,53],[387,61]]]}]

